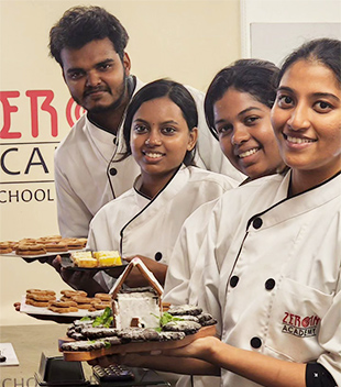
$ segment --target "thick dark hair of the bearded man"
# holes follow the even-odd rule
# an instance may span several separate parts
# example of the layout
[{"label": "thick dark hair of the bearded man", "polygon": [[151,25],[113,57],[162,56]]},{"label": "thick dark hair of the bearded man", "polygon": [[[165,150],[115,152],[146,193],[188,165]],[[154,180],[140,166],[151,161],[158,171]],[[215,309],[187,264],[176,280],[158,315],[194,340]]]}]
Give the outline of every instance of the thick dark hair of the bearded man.
[{"label": "thick dark hair of the bearded man", "polygon": [[81,48],[89,42],[108,37],[123,60],[129,36],[120,21],[100,7],[74,7],[50,31],[50,55],[63,67],[63,48]]}]

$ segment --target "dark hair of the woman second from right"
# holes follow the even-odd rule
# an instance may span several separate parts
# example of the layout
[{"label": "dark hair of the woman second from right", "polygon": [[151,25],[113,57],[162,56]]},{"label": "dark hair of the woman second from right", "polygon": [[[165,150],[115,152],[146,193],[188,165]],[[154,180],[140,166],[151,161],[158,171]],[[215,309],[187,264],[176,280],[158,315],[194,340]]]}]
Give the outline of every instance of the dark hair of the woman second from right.
[{"label": "dark hair of the woman second from right", "polygon": [[257,101],[272,108],[276,99],[278,71],[279,69],[267,60],[241,59],[216,75],[204,102],[206,121],[215,137],[218,139],[213,107],[227,90],[233,87],[238,91],[249,92]]}]

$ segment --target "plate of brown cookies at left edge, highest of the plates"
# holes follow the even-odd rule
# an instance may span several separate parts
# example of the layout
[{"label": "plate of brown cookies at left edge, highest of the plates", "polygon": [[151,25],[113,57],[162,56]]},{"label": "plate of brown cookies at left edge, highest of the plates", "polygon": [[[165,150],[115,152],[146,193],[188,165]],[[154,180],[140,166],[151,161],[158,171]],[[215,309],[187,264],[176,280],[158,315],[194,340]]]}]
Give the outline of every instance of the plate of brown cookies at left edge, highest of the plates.
[{"label": "plate of brown cookies at left edge, highest of the plates", "polygon": [[84,250],[86,244],[85,237],[62,237],[61,235],[25,237],[20,241],[0,242],[0,255],[43,258]]}]

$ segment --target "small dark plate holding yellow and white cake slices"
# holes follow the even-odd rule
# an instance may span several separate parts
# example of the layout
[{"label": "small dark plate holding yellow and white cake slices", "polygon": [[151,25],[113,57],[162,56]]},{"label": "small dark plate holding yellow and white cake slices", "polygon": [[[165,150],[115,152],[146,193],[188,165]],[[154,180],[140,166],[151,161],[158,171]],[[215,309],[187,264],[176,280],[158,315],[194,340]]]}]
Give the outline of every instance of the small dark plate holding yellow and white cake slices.
[{"label": "small dark plate holding yellow and white cake slices", "polygon": [[78,251],[62,256],[62,267],[70,270],[110,269],[110,275],[119,276],[127,265],[128,263],[121,258],[118,251]]}]

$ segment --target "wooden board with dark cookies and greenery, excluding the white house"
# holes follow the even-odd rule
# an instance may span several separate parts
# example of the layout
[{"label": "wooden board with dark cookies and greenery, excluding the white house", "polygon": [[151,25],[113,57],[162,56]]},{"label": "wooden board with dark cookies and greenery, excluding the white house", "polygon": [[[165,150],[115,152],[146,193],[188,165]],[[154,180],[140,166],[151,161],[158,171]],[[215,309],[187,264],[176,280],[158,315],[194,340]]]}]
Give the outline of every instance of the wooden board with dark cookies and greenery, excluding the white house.
[{"label": "wooden board with dark cookies and greenery, excluding the white house", "polygon": [[66,361],[89,361],[120,352],[179,347],[198,338],[216,334],[217,321],[210,314],[201,312],[197,317],[198,322],[187,321],[186,317],[164,312],[154,328],[122,329],[111,325],[113,316],[111,309],[107,308],[100,317],[74,321],[67,329],[67,339],[59,340],[59,350]]}]

